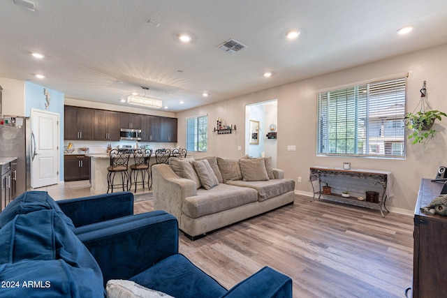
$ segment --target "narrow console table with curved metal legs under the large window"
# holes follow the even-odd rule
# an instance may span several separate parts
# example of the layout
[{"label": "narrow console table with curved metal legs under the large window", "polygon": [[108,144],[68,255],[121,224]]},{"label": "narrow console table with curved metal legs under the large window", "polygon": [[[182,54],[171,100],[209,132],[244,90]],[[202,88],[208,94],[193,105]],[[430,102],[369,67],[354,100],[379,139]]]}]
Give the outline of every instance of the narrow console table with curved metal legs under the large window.
[{"label": "narrow console table with curved metal legs under the large window", "polygon": [[[330,194],[325,194],[321,191],[321,182],[328,182],[329,177],[332,177],[330,181],[340,180],[340,177],[345,179],[339,188],[335,188],[335,191]],[[357,178],[358,180],[353,180],[350,178]],[[386,209],[386,199],[392,195],[390,189],[391,186],[391,172],[381,171],[381,170],[362,170],[362,169],[351,169],[345,170],[342,167],[323,167],[315,166],[310,168],[310,180],[318,179],[318,191],[314,189],[314,198],[318,194],[318,198],[323,198],[325,200],[331,200],[335,202],[342,202],[346,204],[353,204],[360,207],[367,207],[371,209],[380,210],[381,216],[385,217],[383,211],[388,211]],[[346,181],[350,179],[351,181]],[[361,180],[359,180],[361,179]],[[325,181],[326,180],[326,181]],[[365,196],[365,191],[372,190],[376,184],[381,186],[381,189],[377,189],[379,192],[379,202],[366,202],[365,200],[358,200],[359,196]],[[378,187],[379,187],[378,186]],[[344,198],[342,196],[342,191],[349,191],[357,196],[350,196],[349,198]],[[337,193],[338,192],[338,193]]]}]

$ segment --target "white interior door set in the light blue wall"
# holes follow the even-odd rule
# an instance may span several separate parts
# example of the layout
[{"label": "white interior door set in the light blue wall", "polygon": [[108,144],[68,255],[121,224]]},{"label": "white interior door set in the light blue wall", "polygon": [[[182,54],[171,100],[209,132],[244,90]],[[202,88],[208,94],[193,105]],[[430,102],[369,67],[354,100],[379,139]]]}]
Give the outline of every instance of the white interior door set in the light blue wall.
[{"label": "white interior door set in the light blue wall", "polygon": [[31,188],[59,180],[59,114],[31,110]]}]

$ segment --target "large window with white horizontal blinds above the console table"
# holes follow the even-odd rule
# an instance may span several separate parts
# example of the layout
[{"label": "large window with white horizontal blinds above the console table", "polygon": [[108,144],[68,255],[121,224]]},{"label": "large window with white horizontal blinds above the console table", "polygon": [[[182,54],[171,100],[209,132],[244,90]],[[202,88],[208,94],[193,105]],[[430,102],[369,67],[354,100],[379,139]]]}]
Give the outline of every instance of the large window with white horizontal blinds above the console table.
[{"label": "large window with white horizontal blinds above the console table", "polygon": [[406,77],[318,96],[317,154],[405,157]]}]

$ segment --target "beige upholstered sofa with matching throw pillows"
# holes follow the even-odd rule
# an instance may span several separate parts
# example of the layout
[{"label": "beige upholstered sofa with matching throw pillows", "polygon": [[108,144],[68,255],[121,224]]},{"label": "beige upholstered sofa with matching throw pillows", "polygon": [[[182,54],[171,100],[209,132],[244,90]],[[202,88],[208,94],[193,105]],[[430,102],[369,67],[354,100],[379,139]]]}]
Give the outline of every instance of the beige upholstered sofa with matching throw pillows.
[{"label": "beige upholstered sofa with matching throw pillows", "polygon": [[190,239],[293,204],[295,181],[271,158],[170,158],[152,166],[154,209],[179,221]]}]

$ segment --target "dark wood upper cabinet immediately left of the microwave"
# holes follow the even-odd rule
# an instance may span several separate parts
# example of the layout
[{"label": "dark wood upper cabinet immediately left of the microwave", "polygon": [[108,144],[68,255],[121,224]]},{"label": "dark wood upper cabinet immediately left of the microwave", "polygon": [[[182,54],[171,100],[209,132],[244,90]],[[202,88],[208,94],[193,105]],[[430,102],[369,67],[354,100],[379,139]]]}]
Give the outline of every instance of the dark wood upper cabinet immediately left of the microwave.
[{"label": "dark wood upper cabinet immediately left of the microwave", "polygon": [[119,141],[119,114],[107,110],[94,110],[94,140]]}]

